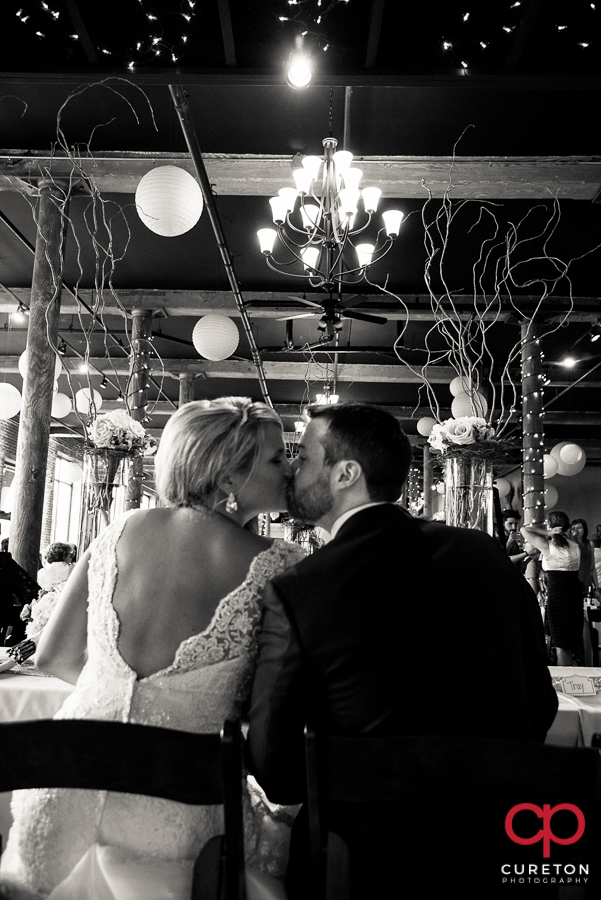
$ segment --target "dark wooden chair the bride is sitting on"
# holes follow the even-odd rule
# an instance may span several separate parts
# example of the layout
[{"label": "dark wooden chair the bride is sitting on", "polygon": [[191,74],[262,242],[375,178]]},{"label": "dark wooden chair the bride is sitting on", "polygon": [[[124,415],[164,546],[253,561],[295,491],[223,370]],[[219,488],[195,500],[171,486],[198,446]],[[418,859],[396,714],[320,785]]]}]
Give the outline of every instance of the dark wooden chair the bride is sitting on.
[{"label": "dark wooden chair the bride is sitting on", "polygon": [[245,900],[238,721],[225,722],[221,734],[89,719],[0,724],[0,792],[45,787],[223,804],[225,834],[201,850],[192,898]]}]

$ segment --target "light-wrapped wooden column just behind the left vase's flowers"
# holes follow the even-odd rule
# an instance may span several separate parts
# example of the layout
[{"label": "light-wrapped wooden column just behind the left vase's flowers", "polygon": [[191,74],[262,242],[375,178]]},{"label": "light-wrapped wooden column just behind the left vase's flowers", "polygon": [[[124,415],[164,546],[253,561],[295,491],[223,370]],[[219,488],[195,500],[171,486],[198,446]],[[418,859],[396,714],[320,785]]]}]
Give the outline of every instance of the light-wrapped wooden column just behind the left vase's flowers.
[{"label": "light-wrapped wooden column just behind the left vase's flowers", "polygon": [[[132,349],[127,406],[129,414],[136,422],[144,422],[148,409],[148,386],[150,384],[150,338],[152,335],[151,309],[134,309],[132,312]],[[125,499],[126,509],[139,509],[144,479],[144,457],[136,456],[129,466],[129,480]]]}]

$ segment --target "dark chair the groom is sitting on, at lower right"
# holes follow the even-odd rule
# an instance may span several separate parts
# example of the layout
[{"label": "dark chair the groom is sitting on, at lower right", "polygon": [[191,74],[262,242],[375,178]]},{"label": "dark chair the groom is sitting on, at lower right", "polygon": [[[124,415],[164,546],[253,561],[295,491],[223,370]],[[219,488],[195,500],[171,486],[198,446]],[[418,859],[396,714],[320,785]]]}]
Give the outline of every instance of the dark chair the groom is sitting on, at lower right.
[{"label": "dark chair the groom is sitting on, at lower right", "polygon": [[[601,737],[596,746],[601,747]],[[422,895],[447,896],[453,884],[449,873],[463,861],[468,871],[469,865],[477,866],[478,874],[473,893],[469,885],[457,884],[461,896],[496,896],[502,890],[503,863],[543,862],[542,844],[533,849],[512,843],[507,835],[505,817],[521,803],[572,803],[582,809],[588,823],[586,843],[583,838],[570,846],[553,844],[551,862],[573,864],[588,858],[594,868],[601,798],[601,753],[594,747],[438,735],[343,738],[320,735],[308,725],[305,751],[312,900],[379,896],[380,890],[365,881],[366,870],[376,874],[388,866],[383,877],[407,885],[411,866],[424,859],[428,864]],[[522,819],[520,828],[536,823],[532,834],[540,828],[533,812],[517,815],[531,817],[529,822]],[[573,813],[559,815],[569,818]],[[575,821],[564,820],[565,836],[573,834],[567,829]],[[380,831],[390,854],[384,864],[383,857],[378,859]],[[355,866],[361,854],[358,875]],[[550,888],[541,896],[561,897],[557,890]],[[598,885],[588,884],[574,896],[597,897]]]}]

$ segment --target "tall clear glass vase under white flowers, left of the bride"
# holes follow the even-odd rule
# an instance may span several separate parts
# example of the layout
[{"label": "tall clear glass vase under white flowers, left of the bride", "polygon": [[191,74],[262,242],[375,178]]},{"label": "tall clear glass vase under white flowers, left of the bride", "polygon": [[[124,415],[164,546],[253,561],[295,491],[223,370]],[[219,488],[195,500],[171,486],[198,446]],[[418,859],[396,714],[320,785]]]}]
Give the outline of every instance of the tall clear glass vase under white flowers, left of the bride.
[{"label": "tall clear glass vase under white flowers, left of the bride", "polygon": [[94,448],[85,451],[79,555],[109,524],[113,493],[116,487],[126,483],[129,459],[131,453],[126,450]]}]

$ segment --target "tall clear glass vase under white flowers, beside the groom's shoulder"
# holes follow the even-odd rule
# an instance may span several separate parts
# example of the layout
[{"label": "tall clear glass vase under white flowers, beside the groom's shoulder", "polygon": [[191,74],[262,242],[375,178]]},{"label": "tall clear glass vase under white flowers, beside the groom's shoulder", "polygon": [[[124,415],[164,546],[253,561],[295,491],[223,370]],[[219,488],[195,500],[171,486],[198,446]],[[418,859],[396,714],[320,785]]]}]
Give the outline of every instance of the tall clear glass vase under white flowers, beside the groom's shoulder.
[{"label": "tall clear glass vase under white flowers, beside the groom's shoulder", "polygon": [[493,466],[489,459],[458,455],[444,461],[446,522],[493,533]]}]

